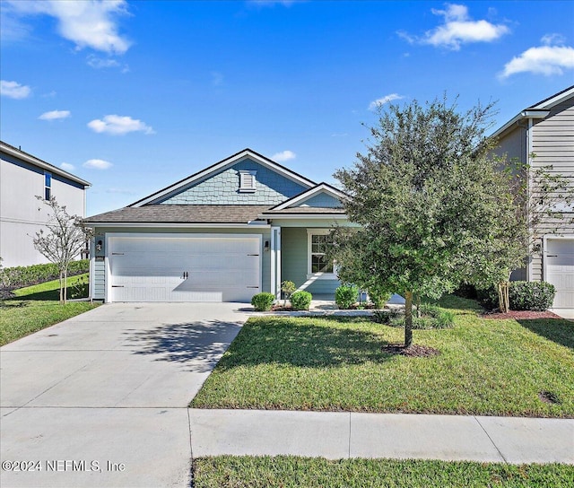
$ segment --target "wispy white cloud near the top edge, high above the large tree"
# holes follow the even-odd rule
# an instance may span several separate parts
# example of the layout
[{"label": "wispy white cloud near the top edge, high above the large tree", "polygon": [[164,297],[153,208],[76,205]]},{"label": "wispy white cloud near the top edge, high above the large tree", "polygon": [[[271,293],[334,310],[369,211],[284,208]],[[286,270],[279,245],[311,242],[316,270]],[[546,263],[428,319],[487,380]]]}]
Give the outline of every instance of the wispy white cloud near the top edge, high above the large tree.
[{"label": "wispy white cloud near the top edge, high above the large tree", "polygon": [[444,17],[444,23],[436,29],[427,30],[422,38],[405,32],[398,32],[398,35],[412,44],[431,44],[457,51],[462,44],[491,42],[510,31],[504,24],[493,24],[484,20],[473,21],[465,5],[446,4],[445,10],[431,9],[431,12]]}]

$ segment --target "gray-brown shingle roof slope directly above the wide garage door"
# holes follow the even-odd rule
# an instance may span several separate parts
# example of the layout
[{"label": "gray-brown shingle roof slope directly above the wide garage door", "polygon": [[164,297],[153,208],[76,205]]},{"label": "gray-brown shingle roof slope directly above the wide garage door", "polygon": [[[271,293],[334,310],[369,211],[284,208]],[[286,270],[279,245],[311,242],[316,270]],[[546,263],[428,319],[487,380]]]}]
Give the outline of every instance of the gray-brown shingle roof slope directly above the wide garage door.
[{"label": "gray-brown shingle roof slope directly above the wide garage door", "polygon": [[86,223],[248,223],[268,205],[143,205],[87,217]]}]

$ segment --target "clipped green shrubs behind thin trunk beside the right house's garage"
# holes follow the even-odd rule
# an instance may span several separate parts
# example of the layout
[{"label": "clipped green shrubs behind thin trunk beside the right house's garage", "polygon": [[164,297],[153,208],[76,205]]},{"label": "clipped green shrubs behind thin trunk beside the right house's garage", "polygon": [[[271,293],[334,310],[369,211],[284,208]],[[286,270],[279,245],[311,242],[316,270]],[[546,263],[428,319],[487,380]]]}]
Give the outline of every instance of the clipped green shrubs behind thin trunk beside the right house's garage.
[{"label": "clipped green shrubs behind thin trunk beside the right house's garage", "polygon": [[[510,282],[511,310],[545,310],[552,307],[556,290],[546,282]],[[496,286],[478,291],[478,299],[486,309],[498,309],[499,292]]]}]

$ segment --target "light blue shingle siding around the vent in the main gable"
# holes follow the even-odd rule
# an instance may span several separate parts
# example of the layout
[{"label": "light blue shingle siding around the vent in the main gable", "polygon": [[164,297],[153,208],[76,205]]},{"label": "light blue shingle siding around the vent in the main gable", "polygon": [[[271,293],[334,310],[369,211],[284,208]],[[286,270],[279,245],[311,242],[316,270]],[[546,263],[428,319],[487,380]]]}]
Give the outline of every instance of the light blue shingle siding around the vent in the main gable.
[{"label": "light blue shingle siding around the vent in the main gable", "polygon": [[[239,170],[256,170],[257,191],[239,192]],[[209,179],[168,196],[162,205],[278,205],[307,190],[299,183],[246,159],[222,170]]]}]

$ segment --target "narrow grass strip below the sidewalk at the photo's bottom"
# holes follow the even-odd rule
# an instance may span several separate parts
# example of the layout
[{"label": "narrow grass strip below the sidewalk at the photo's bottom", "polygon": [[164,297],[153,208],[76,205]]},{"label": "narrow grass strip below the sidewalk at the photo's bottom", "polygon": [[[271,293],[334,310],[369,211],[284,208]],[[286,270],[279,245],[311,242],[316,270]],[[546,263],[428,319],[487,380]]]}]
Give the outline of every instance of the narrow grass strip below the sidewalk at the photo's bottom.
[{"label": "narrow grass strip below the sidewalk at the photo's bottom", "polygon": [[574,466],[486,464],[426,460],[309,457],[194,459],[196,488],[378,487],[561,488],[574,486]]}]

